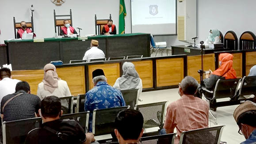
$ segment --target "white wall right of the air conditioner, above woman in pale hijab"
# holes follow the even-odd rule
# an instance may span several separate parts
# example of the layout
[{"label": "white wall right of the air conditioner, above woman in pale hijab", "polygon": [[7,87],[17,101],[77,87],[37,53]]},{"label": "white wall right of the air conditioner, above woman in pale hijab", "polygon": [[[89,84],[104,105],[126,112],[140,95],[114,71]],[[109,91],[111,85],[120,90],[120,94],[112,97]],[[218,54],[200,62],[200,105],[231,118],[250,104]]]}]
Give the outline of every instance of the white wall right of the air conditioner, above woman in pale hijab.
[{"label": "white wall right of the air conditioner, above woman in pale hijab", "polygon": [[[210,29],[223,34],[233,30],[238,42],[241,34],[256,34],[256,0],[197,0],[197,35],[205,41]],[[238,44],[239,45],[239,44]]]}]

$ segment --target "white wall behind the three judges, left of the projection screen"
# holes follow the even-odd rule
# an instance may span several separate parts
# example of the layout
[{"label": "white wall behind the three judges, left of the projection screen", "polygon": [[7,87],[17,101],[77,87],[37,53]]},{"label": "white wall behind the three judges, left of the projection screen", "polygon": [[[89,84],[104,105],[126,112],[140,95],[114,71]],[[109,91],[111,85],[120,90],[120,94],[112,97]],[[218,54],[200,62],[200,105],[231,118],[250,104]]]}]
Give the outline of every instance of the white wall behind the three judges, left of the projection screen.
[{"label": "white wall behind the three judges, left of the projection screen", "polygon": [[[131,32],[130,0],[126,3],[126,33]],[[73,26],[81,27],[81,35],[95,34],[95,20],[107,19],[112,15],[118,31],[119,0],[66,0],[65,4],[56,6],[50,0],[0,0],[0,43],[14,38],[13,17],[16,22],[30,21],[31,4],[34,5],[34,32],[38,38],[54,36],[53,9],[57,15],[68,15],[72,9]],[[78,32],[78,30],[77,30]]]}]

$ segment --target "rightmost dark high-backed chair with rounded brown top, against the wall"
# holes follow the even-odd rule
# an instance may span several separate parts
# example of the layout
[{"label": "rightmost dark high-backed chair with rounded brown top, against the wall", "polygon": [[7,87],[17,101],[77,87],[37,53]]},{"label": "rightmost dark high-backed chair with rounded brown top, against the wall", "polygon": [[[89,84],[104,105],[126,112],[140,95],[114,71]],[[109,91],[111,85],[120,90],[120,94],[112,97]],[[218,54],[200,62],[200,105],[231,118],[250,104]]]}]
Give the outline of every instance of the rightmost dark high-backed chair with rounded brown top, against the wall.
[{"label": "rightmost dark high-backed chair with rounded brown top, against the wall", "polygon": [[241,34],[241,37],[239,39],[239,49],[254,49],[256,46],[256,36],[251,31],[245,31],[243,34]]}]

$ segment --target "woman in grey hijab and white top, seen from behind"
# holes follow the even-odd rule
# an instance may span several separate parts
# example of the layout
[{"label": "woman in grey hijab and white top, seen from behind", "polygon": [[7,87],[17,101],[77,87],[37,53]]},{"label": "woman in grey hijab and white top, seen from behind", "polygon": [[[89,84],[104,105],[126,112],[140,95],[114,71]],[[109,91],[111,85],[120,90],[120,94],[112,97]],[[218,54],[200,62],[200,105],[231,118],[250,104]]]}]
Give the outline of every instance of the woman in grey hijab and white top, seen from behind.
[{"label": "woman in grey hijab and white top, seen from behind", "polygon": [[[114,88],[118,90],[127,90],[138,88],[138,98],[142,92],[142,81],[139,78],[138,72],[135,70],[135,66],[131,62],[125,62],[122,65],[122,77],[119,77],[114,84]],[[138,99],[142,101],[141,99]],[[137,101],[138,102],[138,101]]]}]

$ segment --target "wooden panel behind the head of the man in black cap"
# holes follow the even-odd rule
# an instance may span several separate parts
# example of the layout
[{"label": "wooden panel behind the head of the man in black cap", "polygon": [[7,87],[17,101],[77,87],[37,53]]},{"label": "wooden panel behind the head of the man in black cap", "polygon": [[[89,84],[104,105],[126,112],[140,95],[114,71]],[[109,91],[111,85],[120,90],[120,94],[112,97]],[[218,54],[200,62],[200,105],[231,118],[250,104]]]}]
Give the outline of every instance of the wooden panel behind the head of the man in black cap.
[{"label": "wooden panel behind the head of the man in black cap", "polygon": [[120,77],[120,64],[96,64],[88,66],[88,74],[89,74],[89,87],[92,89],[92,72],[96,69],[103,69],[105,76],[107,77],[107,83],[111,86],[115,84],[115,81],[118,77]]}]

